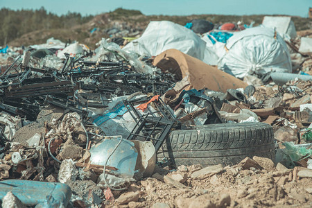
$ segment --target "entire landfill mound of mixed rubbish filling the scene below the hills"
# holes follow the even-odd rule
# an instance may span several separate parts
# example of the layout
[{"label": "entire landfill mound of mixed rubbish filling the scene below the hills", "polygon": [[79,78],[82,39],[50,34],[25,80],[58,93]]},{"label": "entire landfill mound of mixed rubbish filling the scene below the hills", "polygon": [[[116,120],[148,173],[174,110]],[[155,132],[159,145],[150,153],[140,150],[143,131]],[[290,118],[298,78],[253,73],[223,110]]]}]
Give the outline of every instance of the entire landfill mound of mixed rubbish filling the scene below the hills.
[{"label": "entire landfill mound of mixed rubbish filling the scene below the hills", "polygon": [[3,47],[2,207],[311,207],[312,33],[294,30]]}]

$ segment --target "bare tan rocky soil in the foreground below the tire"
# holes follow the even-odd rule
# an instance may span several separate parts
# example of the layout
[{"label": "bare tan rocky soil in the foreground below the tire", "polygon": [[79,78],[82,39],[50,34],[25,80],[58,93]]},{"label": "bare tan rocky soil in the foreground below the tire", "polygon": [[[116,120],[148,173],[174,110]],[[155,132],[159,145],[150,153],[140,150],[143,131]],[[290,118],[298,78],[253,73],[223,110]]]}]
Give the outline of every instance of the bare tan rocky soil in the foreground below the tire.
[{"label": "bare tan rocky soil in the foreground below the tire", "polygon": [[312,170],[275,167],[254,157],[239,165],[156,168],[128,191],[112,191],[105,207],[311,207]]}]

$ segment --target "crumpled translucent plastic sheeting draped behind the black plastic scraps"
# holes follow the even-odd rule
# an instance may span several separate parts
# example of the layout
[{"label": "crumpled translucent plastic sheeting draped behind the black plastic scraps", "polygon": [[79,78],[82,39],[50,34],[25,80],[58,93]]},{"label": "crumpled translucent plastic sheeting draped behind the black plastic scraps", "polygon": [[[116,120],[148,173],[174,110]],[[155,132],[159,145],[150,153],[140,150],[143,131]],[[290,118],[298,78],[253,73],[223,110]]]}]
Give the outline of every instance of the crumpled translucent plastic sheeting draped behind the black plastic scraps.
[{"label": "crumpled translucent plastic sheeting draped behind the black plastic scraps", "polygon": [[129,60],[129,63],[140,73],[153,73],[156,70],[141,62],[139,56],[135,53],[123,51],[118,44],[108,43],[104,38],[102,38],[100,46],[94,52],[96,55],[89,59],[91,61],[112,60],[117,62],[119,60]]}]

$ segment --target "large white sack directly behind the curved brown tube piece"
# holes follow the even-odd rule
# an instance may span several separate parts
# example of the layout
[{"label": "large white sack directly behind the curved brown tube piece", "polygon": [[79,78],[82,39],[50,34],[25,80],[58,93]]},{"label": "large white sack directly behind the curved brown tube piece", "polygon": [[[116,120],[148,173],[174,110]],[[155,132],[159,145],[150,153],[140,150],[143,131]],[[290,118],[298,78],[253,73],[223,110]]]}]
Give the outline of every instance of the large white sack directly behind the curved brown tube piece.
[{"label": "large white sack directly behind the curved brown tube piece", "polygon": [[171,21],[150,21],[146,31],[137,40],[123,47],[139,55],[159,55],[168,49],[177,49],[202,60],[206,44],[196,33]]}]

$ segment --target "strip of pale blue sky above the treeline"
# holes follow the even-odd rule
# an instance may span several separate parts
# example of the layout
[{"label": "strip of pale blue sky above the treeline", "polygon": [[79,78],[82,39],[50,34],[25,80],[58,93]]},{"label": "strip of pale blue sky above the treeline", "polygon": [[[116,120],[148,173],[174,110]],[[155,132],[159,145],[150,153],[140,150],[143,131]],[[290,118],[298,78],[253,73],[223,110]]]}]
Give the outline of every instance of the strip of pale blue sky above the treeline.
[{"label": "strip of pale blue sky above the treeline", "polygon": [[312,0],[0,0],[0,8],[38,9],[58,15],[97,15],[122,7],[144,15],[294,15],[308,17]]}]

